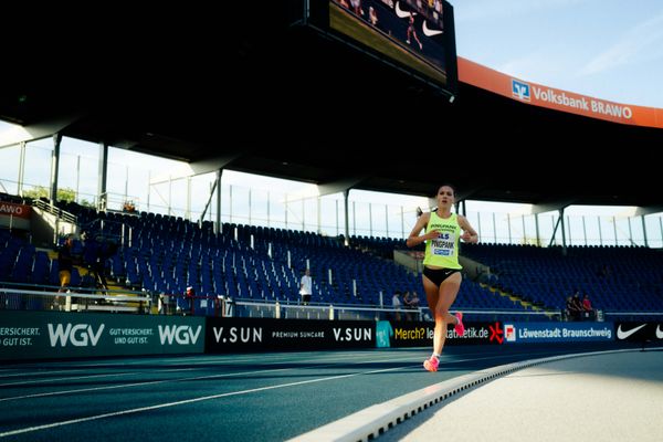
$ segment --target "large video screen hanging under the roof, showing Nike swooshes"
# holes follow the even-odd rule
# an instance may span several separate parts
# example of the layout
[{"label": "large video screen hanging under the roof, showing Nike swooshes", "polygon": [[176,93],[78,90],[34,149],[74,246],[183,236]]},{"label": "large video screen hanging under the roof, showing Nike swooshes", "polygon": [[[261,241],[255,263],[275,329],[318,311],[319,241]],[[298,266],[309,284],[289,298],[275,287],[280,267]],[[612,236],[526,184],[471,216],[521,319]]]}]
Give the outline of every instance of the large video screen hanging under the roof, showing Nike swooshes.
[{"label": "large video screen hanging under the roof, showing Nike swooshes", "polygon": [[311,0],[313,25],[455,95],[453,7],[444,0]]}]

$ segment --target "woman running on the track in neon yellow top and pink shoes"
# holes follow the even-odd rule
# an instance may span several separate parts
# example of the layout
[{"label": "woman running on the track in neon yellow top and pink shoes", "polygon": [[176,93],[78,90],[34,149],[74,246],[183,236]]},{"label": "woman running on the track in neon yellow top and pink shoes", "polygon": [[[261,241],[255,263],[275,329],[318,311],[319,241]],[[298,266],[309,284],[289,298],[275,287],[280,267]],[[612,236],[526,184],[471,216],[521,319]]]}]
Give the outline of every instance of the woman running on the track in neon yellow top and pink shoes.
[{"label": "woman running on the track in neon yellow top and pink shoes", "polygon": [[[454,202],[453,186],[441,186],[438,189],[438,209],[419,217],[407,240],[409,248],[425,242],[423,288],[435,318],[433,354],[423,362],[423,367],[429,371],[438,371],[440,355],[446,339],[446,325],[453,324],[456,334],[461,336],[465,333],[463,314],[459,312],[451,315],[449,309],[459,294],[462,282],[459,240],[476,243],[478,234],[465,217],[451,212]],[[424,234],[420,235],[424,229]]]}]

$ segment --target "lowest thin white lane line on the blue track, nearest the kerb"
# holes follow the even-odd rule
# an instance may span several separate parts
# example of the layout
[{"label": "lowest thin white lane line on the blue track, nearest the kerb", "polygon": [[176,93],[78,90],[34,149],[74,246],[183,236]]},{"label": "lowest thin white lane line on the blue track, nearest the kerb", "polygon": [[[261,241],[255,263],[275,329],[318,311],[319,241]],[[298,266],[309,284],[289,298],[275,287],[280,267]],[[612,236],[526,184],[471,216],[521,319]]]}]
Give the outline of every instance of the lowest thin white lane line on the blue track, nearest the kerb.
[{"label": "lowest thin white lane line on the blue track, nearest the kerb", "polygon": [[[393,359],[390,359],[390,360],[393,360]],[[372,373],[378,373],[378,372],[396,371],[396,370],[402,370],[402,369],[411,368],[411,367],[413,367],[413,366],[385,368],[381,370],[360,371],[360,372],[349,373],[349,375],[329,376],[329,377],[324,377],[324,378],[302,380],[298,382],[278,383],[275,386],[259,387],[259,388],[252,388],[249,390],[232,391],[232,392],[228,392],[228,393],[220,393],[220,394],[212,394],[212,396],[203,396],[200,398],[185,399],[181,401],[159,403],[159,404],[149,406],[149,407],[139,407],[139,408],[134,408],[134,409],[129,409],[129,410],[114,411],[112,413],[90,415],[87,418],[70,419],[67,421],[62,421],[62,422],[53,422],[53,423],[48,423],[44,425],[28,427],[28,428],[22,428],[22,429],[18,429],[18,430],[6,431],[3,433],[0,433],[0,438],[7,438],[7,436],[11,436],[11,435],[17,435],[17,434],[24,434],[24,433],[30,433],[33,431],[46,430],[46,429],[56,428],[56,427],[64,427],[64,425],[71,425],[71,424],[76,424],[76,423],[90,422],[90,421],[95,421],[98,419],[114,418],[117,415],[127,415],[127,414],[140,413],[143,411],[151,411],[151,410],[158,410],[158,409],[168,408],[168,407],[177,407],[177,406],[183,406],[183,404],[188,404],[188,403],[202,402],[202,401],[208,401],[208,400],[212,400],[212,399],[228,398],[231,396],[249,394],[249,393],[254,393],[257,391],[267,391],[267,390],[275,390],[275,389],[286,388],[286,387],[304,386],[307,383],[325,382],[328,380],[354,378],[356,376],[362,376],[362,375],[372,375]]]}]

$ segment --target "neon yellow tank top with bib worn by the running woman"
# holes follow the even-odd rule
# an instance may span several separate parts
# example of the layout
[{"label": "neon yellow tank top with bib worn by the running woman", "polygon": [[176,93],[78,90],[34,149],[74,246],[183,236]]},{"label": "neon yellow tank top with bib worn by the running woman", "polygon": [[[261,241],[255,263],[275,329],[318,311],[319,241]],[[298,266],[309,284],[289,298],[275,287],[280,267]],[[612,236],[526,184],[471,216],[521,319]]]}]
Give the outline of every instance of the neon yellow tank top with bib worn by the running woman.
[{"label": "neon yellow tank top with bib worn by the running woman", "polygon": [[459,240],[461,227],[457,214],[452,213],[449,218],[440,218],[436,212],[431,212],[431,219],[425,227],[425,232],[439,230],[440,238],[434,238],[425,243],[425,255],[423,265],[433,265],[444,269],[463,269],[459,264]]}]

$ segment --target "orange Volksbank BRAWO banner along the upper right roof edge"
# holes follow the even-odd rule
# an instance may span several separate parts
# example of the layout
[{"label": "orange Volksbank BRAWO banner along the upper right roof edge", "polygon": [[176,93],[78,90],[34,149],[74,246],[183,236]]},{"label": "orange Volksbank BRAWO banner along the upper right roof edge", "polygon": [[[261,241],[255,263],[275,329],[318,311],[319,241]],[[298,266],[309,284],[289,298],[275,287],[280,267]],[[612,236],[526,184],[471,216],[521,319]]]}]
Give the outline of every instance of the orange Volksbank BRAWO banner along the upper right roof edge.
[{"label": "orange Volksbank BRAWO banner along the upper right roof edge", "polygon": [[663,128],[663,109],[609,102],[505,75],[459,59],[459,81],[525,104],[633,126]]}]

